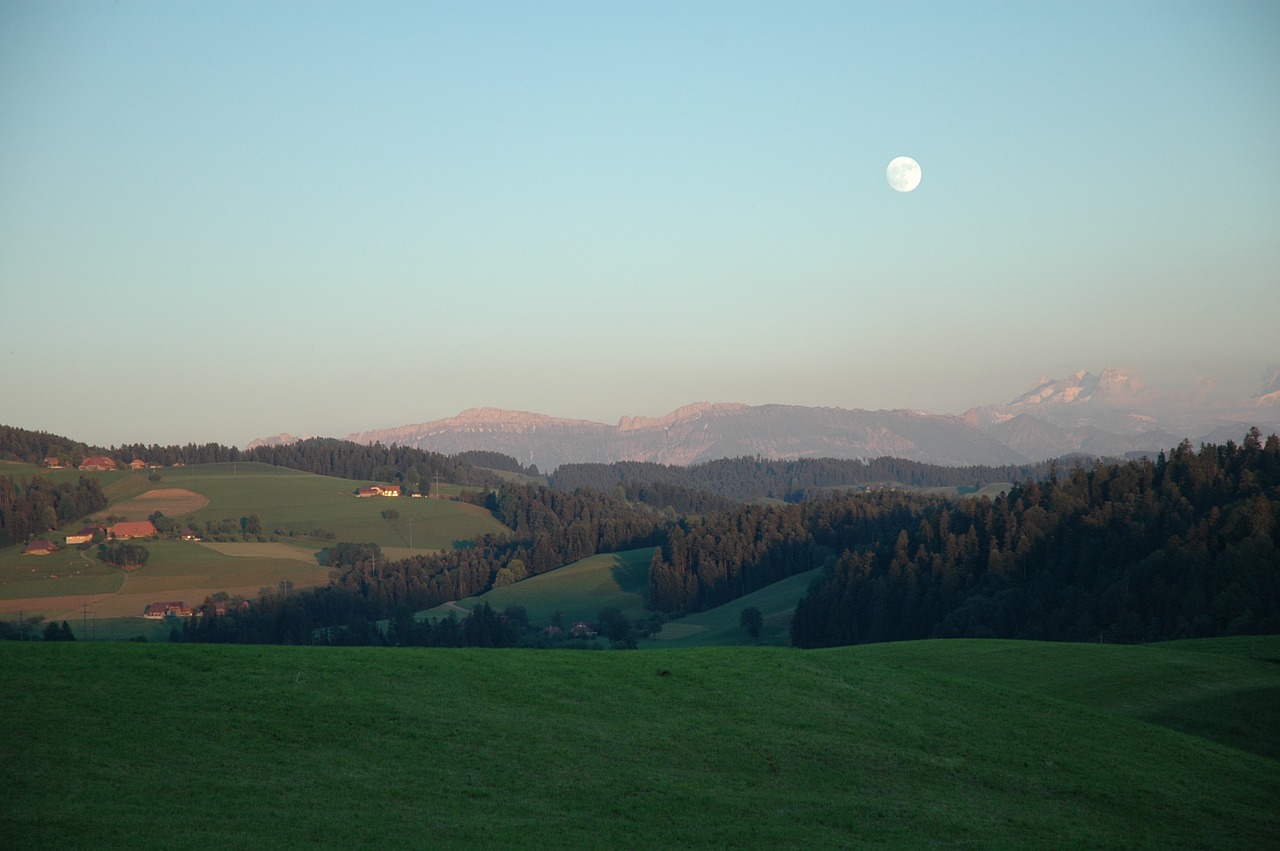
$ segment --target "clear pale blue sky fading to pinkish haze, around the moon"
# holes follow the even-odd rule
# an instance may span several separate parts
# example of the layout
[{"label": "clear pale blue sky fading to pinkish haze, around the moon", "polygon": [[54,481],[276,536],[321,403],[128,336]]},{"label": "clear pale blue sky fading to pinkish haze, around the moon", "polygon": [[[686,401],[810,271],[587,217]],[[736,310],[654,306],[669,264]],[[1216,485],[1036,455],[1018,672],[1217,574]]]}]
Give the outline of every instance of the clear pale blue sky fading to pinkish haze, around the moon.
[{"label": "clear pale blue sky fading to pinkish haze, around the moon", "polygon": [[0,422],[1248,395],[1277,44],[1270,1],[5,0]]}]

